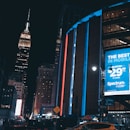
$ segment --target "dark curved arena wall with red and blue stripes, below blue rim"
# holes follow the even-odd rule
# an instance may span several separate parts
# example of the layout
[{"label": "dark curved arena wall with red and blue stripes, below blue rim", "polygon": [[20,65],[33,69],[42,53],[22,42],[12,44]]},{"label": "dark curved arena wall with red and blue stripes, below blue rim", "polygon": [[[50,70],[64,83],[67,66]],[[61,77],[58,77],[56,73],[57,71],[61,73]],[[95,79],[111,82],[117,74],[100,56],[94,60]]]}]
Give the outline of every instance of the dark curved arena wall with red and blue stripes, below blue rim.
[{"label": "dark curved arena wall with red and blue stripes, below blue rim", "polygon": [[[94,18],[87,17],[88,21],[79,24],[66,34],[61,110],[69,115],[72,113],[78,116],[79,113],[84,115],[86,111],[97,112],[98,104],[95,99],[98,99],[99,71],[92,72],[91,67],[100,66],[101,18],[99,14],[100,12],[97,12]],[[92,30],[96,32],[96,36]],[[96,50],[93,46],[96,46]],[[86,105],[88,105],[87,109]]]}]

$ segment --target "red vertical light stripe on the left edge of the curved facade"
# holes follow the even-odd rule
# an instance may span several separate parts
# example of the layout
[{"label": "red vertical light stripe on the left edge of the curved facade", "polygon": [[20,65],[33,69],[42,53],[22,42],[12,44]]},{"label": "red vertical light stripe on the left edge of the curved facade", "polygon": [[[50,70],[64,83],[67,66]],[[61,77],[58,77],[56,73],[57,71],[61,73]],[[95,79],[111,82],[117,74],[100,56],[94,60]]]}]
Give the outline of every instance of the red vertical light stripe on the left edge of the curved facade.
[{"label": "red vertical light stripe on the left edge of the curved facade", "polygon": [[65,38],[64,63],[63,63],[63,74],[62,74],[62,90],[61,90],[61,102],[60,102],[60,116],[62,116],[62,114],[63,114],[67,48],[68,48],[68,34],[66,35],[66,38]]}]

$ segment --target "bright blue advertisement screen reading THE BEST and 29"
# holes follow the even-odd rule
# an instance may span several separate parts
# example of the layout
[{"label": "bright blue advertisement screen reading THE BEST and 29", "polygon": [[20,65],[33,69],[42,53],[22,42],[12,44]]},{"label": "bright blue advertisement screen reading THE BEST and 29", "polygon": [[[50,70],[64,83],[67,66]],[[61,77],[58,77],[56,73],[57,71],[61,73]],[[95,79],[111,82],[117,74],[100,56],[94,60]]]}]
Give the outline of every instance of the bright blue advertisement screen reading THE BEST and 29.
[{"label": "bright blue advertisement screen reading THE BEST and 29", "polygon": [[105,52],[104,95],[130,94],[130,48]]}]

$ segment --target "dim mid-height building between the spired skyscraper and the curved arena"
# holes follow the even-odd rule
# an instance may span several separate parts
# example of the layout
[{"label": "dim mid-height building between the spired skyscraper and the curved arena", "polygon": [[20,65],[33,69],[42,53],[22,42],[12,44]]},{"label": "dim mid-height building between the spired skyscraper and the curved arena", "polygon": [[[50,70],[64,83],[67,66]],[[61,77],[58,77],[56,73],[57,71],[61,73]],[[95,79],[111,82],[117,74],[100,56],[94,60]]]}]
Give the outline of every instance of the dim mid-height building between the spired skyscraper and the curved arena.
[{"label": "dim mid-height building between the spired skyscraper and the curved arena", "polygon": [[55,107],[54,65],[42,65],[38,68],[33,114],[53,112]]}]

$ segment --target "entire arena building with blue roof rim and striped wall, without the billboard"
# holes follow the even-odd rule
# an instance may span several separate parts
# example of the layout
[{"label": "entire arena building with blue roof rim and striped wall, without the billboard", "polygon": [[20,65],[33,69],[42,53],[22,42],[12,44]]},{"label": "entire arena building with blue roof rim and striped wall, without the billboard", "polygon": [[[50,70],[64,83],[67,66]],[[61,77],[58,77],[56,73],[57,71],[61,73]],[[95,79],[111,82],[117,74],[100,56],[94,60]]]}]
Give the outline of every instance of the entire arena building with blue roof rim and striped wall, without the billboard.
[{"label": "entire arena building with blue roof rim and striped wall, without the billboard", "polygon": [[101,107],[129,109],[129,94],[111,95],[114,104],[102,106],[109,97],[104,96],[105,52],[129,48],[129,1],[102,4],[104,7],[99,4],[64,36],[60,115],[98,114]]}]

